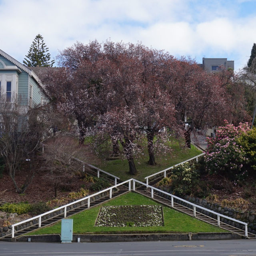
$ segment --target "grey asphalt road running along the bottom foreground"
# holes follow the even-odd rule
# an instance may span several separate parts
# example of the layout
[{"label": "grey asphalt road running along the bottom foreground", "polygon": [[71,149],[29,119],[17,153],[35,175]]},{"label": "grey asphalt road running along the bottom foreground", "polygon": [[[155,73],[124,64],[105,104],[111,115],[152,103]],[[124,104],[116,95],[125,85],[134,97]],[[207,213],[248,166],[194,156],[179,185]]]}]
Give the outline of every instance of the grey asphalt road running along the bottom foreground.
[{"label": "grey asphalt road running along the bottom foreground", "polygon": [[0,242],[0,256],[256,256],[256,240],[115,243]]}]

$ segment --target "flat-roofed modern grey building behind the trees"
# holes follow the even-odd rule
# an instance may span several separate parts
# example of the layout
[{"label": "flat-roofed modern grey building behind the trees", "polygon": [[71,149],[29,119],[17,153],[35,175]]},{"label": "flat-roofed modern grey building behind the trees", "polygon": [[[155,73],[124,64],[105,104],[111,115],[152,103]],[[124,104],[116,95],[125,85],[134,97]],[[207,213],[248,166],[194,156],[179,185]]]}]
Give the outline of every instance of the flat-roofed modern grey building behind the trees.
[{"label": "flat-roofed modern grey building behind the trees", "polygon": [[220,69],[234,70],[234,60],[227,60],[227,58],[203,58],[203,70],[207,72],[218,72]]}]

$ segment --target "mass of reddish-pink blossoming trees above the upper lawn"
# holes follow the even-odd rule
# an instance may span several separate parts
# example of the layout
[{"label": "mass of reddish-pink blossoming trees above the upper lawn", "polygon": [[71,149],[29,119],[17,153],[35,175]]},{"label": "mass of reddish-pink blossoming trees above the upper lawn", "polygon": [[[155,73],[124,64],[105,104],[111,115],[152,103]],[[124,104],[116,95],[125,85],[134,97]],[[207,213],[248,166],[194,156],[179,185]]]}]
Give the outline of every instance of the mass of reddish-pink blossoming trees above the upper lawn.
[{"label": "mass of reddish-pink blossoming trees above the upper lawn", "polygon": [[58,58],[64,68],[52,74],[52,99],[76,118],[81,143],[93,132],[100,142],[122,145],[130,174],[145,137],[148,163],[156,164],[154,154],[159,148],[165,154],[171,134],[182,135],[186,122],[205,128],[236,118],[230,72],[208,74],[194,60],[111,41],[78,42]]}]

